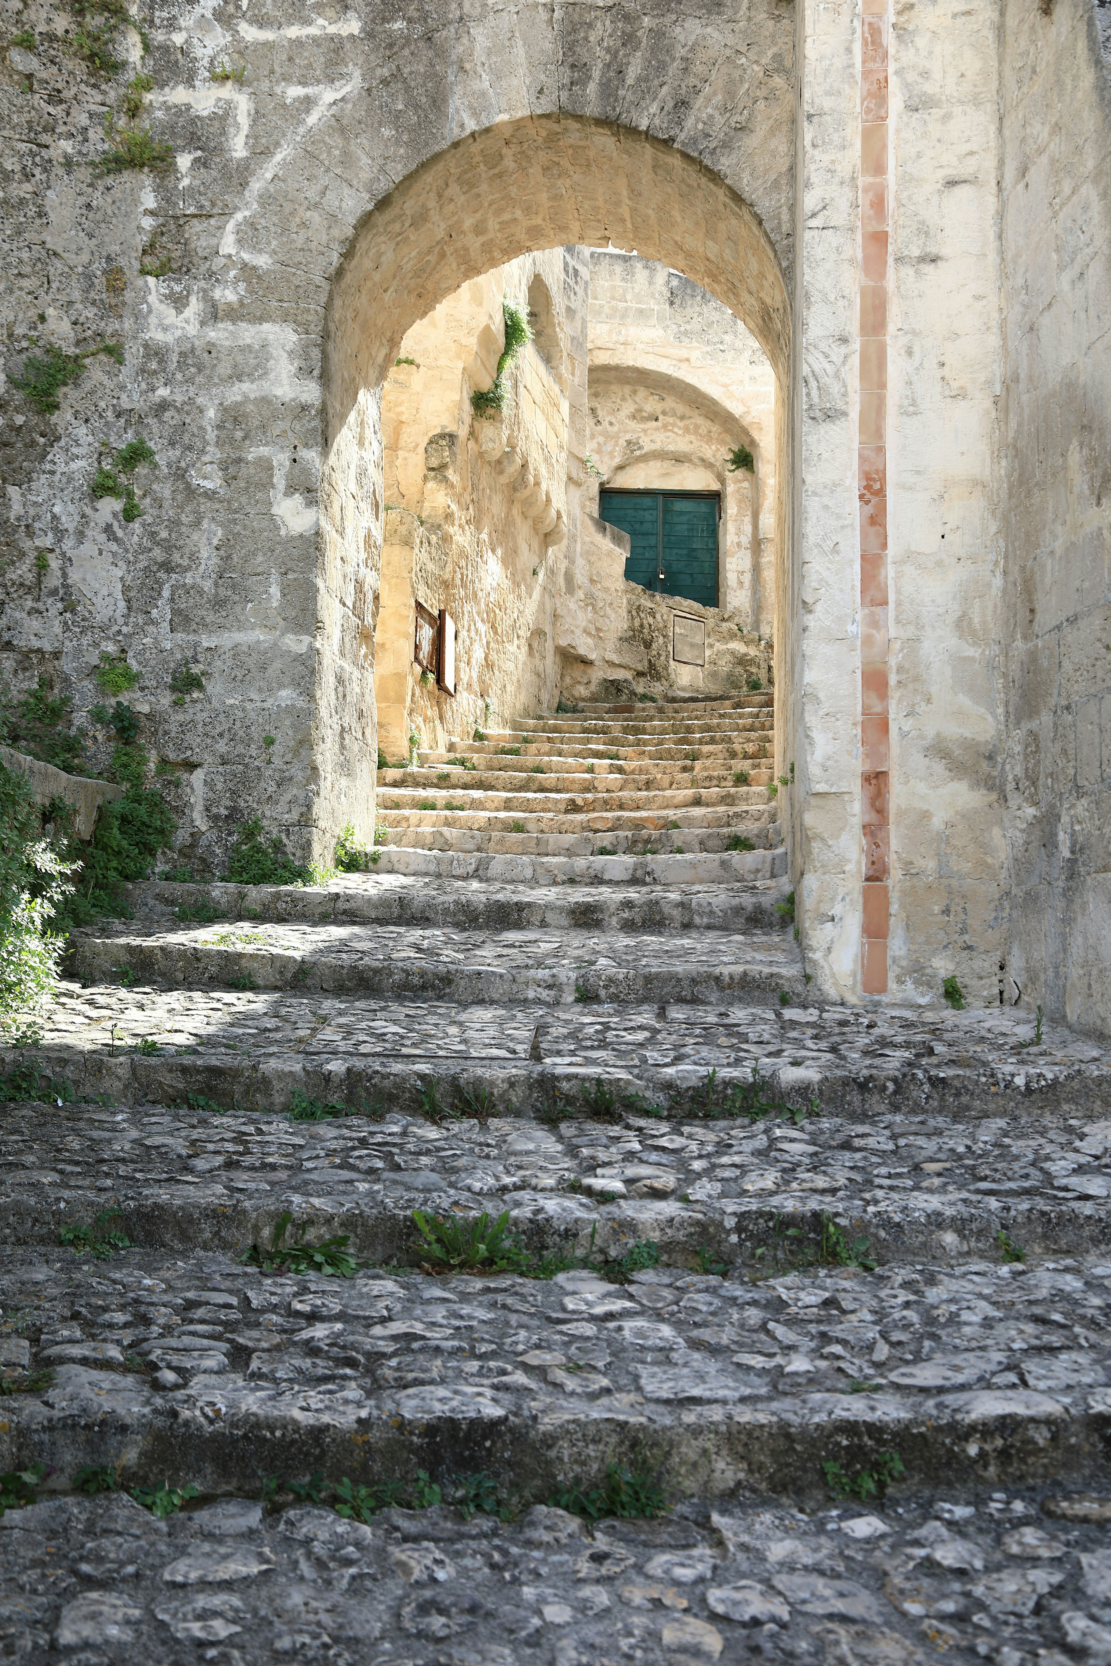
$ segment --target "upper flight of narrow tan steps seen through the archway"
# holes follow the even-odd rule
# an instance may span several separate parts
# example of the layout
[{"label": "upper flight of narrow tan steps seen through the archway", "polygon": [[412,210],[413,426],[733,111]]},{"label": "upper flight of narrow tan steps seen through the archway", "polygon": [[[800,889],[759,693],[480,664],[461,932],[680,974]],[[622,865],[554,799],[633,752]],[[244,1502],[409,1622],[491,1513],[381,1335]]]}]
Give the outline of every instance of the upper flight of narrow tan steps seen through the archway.
[{"label": "upper flight of narrow tan steps seen through the archway", "polygon": [[[378,771],[380,871],[688,885],[786,871],[773,696],[585,705]],[[416,853],[428,853],[423,858]]]}]

